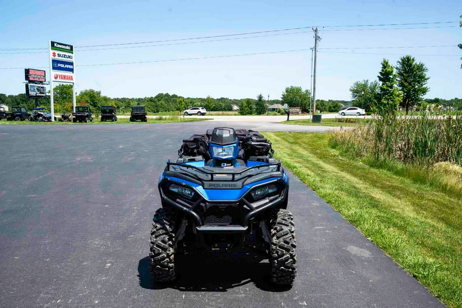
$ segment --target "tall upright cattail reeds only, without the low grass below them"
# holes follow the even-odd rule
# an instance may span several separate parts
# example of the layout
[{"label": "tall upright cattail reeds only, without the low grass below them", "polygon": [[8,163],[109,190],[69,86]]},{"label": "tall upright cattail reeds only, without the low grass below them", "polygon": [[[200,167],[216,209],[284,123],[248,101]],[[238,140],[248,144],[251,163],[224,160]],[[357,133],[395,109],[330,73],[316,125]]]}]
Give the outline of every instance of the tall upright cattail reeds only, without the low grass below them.
[{"label": "tall upright cattail reeds only, without the low grass below them", "polygon": [[366,126],[333,133],[331,146],[375,161],[462,165],[462,114],[374,115]]}]

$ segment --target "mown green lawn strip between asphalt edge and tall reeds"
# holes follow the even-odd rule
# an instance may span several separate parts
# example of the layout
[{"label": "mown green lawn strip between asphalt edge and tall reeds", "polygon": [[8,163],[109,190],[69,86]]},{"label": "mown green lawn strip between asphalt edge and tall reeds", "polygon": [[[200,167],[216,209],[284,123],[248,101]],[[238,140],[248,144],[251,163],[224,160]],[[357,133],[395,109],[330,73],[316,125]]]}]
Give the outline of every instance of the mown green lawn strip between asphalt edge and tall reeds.
[{"label": "mown green lawn strip between asphalt edge and tall reeds", "polygon": [[329,146],[329,134],[265,137],[284,166],[368,239],[446,305],[462,307],[460,193],[342,156]]}]

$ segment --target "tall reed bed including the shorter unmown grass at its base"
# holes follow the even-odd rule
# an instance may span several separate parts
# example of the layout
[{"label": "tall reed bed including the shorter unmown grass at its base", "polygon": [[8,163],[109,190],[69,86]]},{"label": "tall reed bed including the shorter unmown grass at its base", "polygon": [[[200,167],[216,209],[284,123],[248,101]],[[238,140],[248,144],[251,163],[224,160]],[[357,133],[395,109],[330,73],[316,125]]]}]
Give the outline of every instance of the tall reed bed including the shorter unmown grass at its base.
[{"label": "tall reed bed including the shorter unmown grass at its base", "polygon": [[330,145],[413,181],[462,196],[462,114],[373,116],[368,125],[331,133]]}]

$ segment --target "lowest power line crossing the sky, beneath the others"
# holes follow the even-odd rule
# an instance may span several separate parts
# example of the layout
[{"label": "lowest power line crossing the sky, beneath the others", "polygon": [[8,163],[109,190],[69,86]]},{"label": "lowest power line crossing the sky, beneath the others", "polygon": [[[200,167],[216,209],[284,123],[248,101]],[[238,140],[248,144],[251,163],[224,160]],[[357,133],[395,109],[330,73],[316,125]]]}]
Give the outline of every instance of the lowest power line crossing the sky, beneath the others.
[{"label": "lowest power line crossing the sky, beneath the others", "polygon": [[[180,58],[180,59],[164,59],[164,60],[152,60],[152,61],[137,61],[137,62],[121,62],[121,63],[86,64],[86,65],[79,65],[79,67],[107,66],[107,65],[127,65],[127,64],[147,64],[147,63],[161,63],[161,62],[174,62],[174,61],[186,61],[186,60],[202,60],[202,59],[241,57],[241,56],[252,56],[252,55],[262,55],[262,54],[277,54],[277,53],[298,52],[298,51],[308,51],[308,50],[311,50],[311,49],[308,48],[308,49],[294,49],[294,50],[282,50],[282,51],[267,51],[267,52],[242,53],[242,54],[221,55],[221,56],[206,56],[206,57],[189,57],[189,58]],[[322,51],[322,52],[323,52],[323,53],[352,53],[352,54],[402,55],[402,54],[360,53],[360,52],[336,52],[336,51]],[[414,55],[414,56],[460,56],[460,55],[456,55],[456,54],[416,54],[416,55]],[[45,67],[36,67],[36,68],[48,68],[48,66],[45,66]],[[24,69],[24,67],[0,68],[0,70],[15,70],[15,69]]]}]

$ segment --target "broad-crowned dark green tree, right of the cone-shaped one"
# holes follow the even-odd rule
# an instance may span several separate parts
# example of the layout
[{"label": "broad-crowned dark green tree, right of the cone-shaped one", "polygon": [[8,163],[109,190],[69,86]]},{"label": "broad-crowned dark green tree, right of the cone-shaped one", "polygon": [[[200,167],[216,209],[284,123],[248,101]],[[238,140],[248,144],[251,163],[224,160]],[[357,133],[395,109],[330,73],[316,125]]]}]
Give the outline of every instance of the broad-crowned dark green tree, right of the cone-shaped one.
[{"label": "broad-crowned dark green tree, right of the cone-shaped one", "polygon": [[406,115],[409,107],[422,100],[422,97],[429,90],[425,86],[430,79],[427,77],[427,71],[428,69],[423,63],[417,63],[415,58],[410,55],[402,56],[398,60],[396,75],[399,90],[402,92],[401,106],[406,109]]}]

